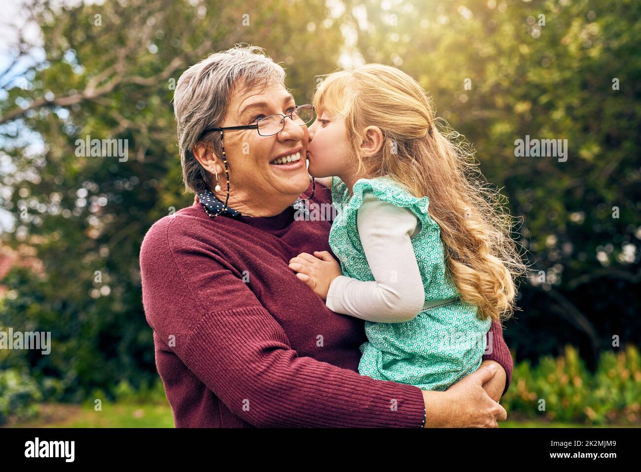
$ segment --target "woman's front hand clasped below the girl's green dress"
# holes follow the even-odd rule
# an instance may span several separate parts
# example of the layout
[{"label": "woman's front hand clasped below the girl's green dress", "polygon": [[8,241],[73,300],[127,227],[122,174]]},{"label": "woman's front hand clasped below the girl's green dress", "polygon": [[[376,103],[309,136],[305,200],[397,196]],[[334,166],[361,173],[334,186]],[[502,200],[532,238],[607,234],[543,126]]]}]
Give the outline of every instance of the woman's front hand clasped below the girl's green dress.
[{"label": "woman's front hand clasped below the girl's green dress", "polygon": [[508,416],[503,406],[492,400],[483,385],[496,374],[495,365],[481,367],[445,390],[423,390],[426,428],[497,428],[497,421]]}]

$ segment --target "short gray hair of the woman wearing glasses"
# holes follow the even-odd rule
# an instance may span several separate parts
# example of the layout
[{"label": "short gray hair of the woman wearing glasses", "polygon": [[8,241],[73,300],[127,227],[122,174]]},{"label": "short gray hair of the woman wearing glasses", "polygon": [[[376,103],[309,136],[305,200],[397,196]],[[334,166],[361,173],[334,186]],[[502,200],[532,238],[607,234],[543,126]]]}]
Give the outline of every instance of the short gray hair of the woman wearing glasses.
[{"label": "short gray hair of the woman wearing glasses", "polygon": [[[258,85],[285,83],[285,70],[257,46],[235,46],[201,60],[178,79],[174,92],[174,114],[178,121],[178,145],[183,180],[187,191],[212,189],[212,174],[192,152],[204,143],[221,157],[219,133],[201,136],[203,130],[216,128],[225,117],[231,93],[236,87],[249,90]],[[222,186],[222,185],[221,185]]]}]

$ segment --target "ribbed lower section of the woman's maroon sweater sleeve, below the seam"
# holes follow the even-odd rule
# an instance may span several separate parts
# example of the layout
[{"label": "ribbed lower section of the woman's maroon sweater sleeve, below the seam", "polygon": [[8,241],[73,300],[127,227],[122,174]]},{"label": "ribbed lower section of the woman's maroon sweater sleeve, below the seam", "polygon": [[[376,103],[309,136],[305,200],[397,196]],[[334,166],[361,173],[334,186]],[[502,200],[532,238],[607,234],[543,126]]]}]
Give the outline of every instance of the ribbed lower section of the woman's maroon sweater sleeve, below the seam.
[{"label": "ribbed lower section of the woman's maroon sweater sleeve, below the seam", "polygon": [[207,313],[180,356],[254,426],[419,427],[422,421],[419,389],[298,356],[260,306]]}]

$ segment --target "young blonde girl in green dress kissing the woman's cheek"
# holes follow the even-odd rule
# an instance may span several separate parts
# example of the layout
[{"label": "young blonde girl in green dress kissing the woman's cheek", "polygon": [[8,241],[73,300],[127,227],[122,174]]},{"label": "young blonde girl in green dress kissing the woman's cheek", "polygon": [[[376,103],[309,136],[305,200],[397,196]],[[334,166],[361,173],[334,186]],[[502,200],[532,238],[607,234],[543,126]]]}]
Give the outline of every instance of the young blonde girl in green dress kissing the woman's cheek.
[{"label": "young blonde girl in green dress kissing the woman's cheek", "polygon": [[340,266],[315,252],[290,268],[330,310],[366,320],[360,374],[445,390],[478,369],[492,320],[513,309],[524,266],[511,218],[407,74],[338,71],[313,104],[308,170],[333,176]]}]

